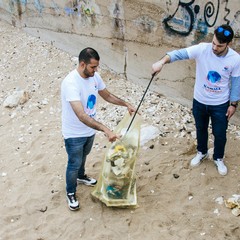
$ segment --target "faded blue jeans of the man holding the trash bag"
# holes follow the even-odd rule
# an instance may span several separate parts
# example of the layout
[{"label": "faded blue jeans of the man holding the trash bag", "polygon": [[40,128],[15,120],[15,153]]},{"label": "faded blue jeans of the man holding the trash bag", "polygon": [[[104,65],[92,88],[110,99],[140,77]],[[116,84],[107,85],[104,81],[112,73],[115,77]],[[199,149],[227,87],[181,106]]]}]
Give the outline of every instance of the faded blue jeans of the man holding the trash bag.
[{"label": "faded blue jeans of the man holding the trash bag", "polygon": [[68,164],[66,170],[66,191],[75,193],[77,188],[77,178],[82,178],[85,174],[85,162],[90,153],[95,135],[91,137],[79,137],[64,139],[68,154]]}]

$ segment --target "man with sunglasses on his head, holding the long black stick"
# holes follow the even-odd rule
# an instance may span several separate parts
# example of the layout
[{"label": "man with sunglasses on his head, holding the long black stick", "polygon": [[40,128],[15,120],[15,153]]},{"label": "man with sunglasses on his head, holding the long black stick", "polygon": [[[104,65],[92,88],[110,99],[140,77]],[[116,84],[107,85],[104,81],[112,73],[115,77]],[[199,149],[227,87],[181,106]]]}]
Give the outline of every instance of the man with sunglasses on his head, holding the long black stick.
[{"label": "man with sunglasses on his head, holding the long black stick", "polygon": [[168,52],[152,65],[152,72],[158,73],[166,63],[195,59],[193,116],[198,152],[191,160],[191,166],[198,166],[208,157],[208,126],[211,120],[213,160],[221,175],[227,174],[223,158],[228,121],[235,113],[240,99],[240,55],[229,47],[233,37],[232,28],[226,24],[221,25],[215,29],[212,43],[200,43]]}]

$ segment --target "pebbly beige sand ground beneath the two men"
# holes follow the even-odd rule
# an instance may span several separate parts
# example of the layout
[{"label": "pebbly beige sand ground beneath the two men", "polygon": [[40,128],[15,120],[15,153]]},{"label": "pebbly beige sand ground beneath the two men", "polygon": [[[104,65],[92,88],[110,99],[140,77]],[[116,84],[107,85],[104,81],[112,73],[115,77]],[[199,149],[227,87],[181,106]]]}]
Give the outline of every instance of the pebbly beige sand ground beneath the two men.
[{"label": "pebbly beige sand ground beneath the two men", "polygon": [[[138,207],[106,207],[91,197],[93,188],[79,185],[81,208],[72,212],[65,197],[60,84],[75,68],[76,57],[0,22],[0,66],[0,239],[240,239],[240,217],[223,203],[240,194],[238,126],[230,124],[228,131],[227,176],[217,173],[211,157],[192,169],[191,110],[149,91],[142,121],[157,126],[159,134],[139,149]],[[100,73],[111,92],[138,105],[144,88],[103,65]],[[4,107],[7,96],[20,89],[27,101]],[[99,120],[112,129],[126,111],[103,101],[98,108]],[[212,136],[209,144],[211,152]],[[86,164],[95,178],[107,146],[98,132]]]}]

